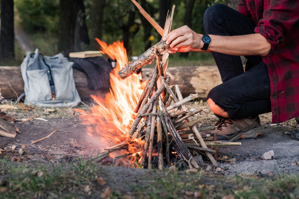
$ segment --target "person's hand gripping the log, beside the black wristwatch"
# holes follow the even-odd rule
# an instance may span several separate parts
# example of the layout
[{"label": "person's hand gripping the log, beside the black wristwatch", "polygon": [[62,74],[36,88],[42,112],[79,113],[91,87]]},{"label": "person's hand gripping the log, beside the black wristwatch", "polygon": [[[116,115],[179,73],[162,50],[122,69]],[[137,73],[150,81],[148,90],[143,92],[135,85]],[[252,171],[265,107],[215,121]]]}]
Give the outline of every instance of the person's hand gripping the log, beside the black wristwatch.
[{"label": "person's hand gripping the log, beside the black wristwatch", "polygon": [[173,54],[176,52],[200,51],[200,48],[204,45],[201,38],[202,35],[197,34],[188,26],[183,26],[168,33],[163,37],[163,40],[166,41],[166,44],[170,44],[167,52]]}]

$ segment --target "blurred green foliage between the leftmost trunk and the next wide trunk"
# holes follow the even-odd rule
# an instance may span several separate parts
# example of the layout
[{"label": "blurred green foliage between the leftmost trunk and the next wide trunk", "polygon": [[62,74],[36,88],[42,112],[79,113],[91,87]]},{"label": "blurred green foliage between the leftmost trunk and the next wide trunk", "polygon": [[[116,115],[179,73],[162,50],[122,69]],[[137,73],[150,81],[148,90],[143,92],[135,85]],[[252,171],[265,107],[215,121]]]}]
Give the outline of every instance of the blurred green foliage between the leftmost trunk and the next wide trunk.
[{"label": "blurred green foliage between the leftmost trunk and the next wide trunk", "polygon": [[27,32],[57,32],[59,0],[15,0],[18,24]]}]

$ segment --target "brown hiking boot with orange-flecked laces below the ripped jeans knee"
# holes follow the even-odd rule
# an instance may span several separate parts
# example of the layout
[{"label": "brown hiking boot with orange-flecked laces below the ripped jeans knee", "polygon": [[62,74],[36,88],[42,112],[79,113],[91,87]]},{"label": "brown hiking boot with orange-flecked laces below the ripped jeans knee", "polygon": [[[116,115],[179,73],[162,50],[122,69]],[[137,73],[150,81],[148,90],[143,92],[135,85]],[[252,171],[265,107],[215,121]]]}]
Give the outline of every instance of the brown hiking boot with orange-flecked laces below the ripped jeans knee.
[{"label": "brown hiking boot with orange-flecked laces below the ripped jeans knee", "polygon": [[202,131],[204,137],[210,134],[210,138],[216,134],[217,141],[234,142],[238,139],[260,138],[264,134],[264,129],[260,124],[259,116],[254,118],[231,119],[223,118],[216,123],[216,129]]}]

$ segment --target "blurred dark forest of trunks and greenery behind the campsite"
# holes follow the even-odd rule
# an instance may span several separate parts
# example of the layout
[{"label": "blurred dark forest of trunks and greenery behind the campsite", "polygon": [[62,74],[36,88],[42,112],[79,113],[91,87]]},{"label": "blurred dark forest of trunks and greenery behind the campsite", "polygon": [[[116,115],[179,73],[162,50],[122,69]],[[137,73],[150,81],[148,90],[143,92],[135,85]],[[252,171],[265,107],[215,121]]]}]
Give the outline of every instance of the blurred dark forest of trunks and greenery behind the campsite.
[{"label": "blurred dark forest of trunks and greenery behind the campsite", "polygon": [[[213,4],[237,9],[239,0],[138,0],[164,27],[167,12],[176,5],[172,30],[188,25],[204,33],[203,16]],[[130,0],[0,0],[0,65],[19,66],[26,51],[44,55],[100,50],[94,38],[107,44],[123,41],[127,55],[138,56],[161,36]],[[22,42],[20,42],[22,41]],[[26,47],[22,47],[25,43]],[[210,53],[176,53],[172,60],[189,65],[214,64]],[[195,61],[196,60],[196,61]]]}]

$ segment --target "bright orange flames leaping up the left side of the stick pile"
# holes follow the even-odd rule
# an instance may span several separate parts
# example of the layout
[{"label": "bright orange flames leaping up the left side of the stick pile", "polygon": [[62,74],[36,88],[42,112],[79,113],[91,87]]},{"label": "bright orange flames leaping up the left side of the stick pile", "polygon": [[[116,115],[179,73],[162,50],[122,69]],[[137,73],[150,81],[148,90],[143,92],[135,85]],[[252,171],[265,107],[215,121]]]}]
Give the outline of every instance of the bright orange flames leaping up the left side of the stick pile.
[{"label": "bright orange flames leaping up the left side of the stick pile", "polygon": [[[134,110],[146,82],[141,83],[141,73],[133,74],[126,79],[121,79],[117,75],[117,72],[128,64],[126,49],[122,42],[118,41],[107,45],[99,39],[96,40],[100,44],[101,52],[117,61],[116,67],[110,73],[110,92],[104,99],[91,96],[96,104],[91,107],[89,113],[83,115],[87,121],[84,123],[92,124],[88,125],[88,135],[93,139],[99,139],[100,147],[104,149],[123,141],[130,141],[128,132],[136,117]],[[129,146],[129,152],[135,154],[136,147],[139,148],[143,145],[141,140],[137,143],[140,146]]]}]

